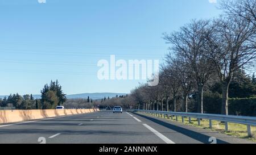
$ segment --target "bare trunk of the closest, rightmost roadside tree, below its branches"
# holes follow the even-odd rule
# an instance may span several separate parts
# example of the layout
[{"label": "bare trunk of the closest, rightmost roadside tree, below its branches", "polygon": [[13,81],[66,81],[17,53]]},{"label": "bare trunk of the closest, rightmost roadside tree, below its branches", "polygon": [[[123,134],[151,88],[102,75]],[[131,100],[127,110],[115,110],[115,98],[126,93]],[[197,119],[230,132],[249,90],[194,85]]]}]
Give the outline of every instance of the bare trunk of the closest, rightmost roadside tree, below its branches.
[{"label": "bare trunk of the closest, rightmost roadside tree, below its branches", "polygon": [[222,84],[222,106],[221,114],[228,115],[229,83]]}]

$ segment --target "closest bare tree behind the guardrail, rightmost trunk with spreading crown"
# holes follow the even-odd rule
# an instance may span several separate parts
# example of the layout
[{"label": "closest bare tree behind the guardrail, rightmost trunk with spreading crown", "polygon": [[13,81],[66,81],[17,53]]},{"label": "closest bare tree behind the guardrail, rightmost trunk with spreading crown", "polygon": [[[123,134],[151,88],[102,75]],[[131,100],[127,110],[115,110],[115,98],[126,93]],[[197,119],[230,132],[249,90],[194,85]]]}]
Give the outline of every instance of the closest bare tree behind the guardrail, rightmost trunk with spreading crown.
[{"label": "closest bare tree behind the guardrail, rightmost trunk with spreading crown", "polygon": [[222,16],[214,20],[208,51],[222,84],[222,114],[228,115],[228,91],[233,73],[254,64],[255,24],[242,16]]}]

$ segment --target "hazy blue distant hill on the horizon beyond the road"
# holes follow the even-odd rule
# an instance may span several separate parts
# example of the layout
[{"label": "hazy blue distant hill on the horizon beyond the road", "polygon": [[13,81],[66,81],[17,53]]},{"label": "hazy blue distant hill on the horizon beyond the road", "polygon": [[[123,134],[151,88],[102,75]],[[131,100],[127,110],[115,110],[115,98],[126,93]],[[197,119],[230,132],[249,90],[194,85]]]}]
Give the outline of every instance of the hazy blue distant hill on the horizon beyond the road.
[{"label": "hazy blue distant hill on the horizon beyond the road", "polygon": [[[76,98],[88,98],[88,96],[91,99],[102,99],[104,97],[108,98],[112,98],[115,97],[116,95],[120,96],[120,95],[126,95],[125,93],[82,93],[82,94],[72,94],[72,95],[67,95],[68,99],[76,99]],[[4,98],[4,97],[8,97],[9,95],[0,95],[0,98]],[[35,99],[41,98],[41,95],[32,95]]]}]

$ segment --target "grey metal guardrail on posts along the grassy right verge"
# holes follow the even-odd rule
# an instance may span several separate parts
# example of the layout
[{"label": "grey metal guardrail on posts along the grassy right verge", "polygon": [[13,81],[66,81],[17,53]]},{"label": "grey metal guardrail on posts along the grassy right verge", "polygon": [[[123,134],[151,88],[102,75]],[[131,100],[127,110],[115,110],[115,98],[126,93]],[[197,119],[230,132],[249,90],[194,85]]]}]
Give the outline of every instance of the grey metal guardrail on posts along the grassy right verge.
[{"label": "grey metal guardrail on posts along the grassy right verge", "polygon": [[218,114],[200,114],[200,113],[187,113],[187,112],[168,112],[168,111],[152,111],[152,110],[133,110],[139,112],[145,112],[146,114],[152,116],[164,115],[164,118],[173,119],[173,116],[181,116],[182,122],[184,123],[184,118],[189,119],[189,123],[191,123],[191,118],[197,118],[197,123],[200,125],[200,119],[209,119],[209,128],[212,128],[212,120],[218,120],[221,122],[225,122],[225,131],[228,131],[228,123],[237,123],[237,124],[245,124],[247,125],[247,134],[248,136],[252,136],[251,134],[251,125],[256,125],[256,117],[249,116],[232,116],[232,115],[218,115]]}]

